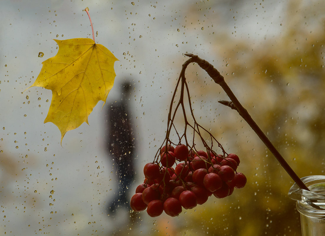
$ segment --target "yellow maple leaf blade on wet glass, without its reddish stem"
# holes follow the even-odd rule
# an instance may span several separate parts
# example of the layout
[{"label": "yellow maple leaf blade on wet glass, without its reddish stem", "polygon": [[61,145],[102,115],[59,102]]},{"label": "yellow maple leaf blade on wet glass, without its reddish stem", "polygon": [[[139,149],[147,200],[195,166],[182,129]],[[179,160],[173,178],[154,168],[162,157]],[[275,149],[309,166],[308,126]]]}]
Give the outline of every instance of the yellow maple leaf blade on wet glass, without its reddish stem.
[{"label": "yellow maple leaf blade on wet glass, without its reddish stem", "polygon": [[67,131],[84,122],[88,124],[88,116],[100,100],[105,104],[116,76],[114,62],[118,59],[89,38],[54,40],[59,51],[42,62],[41,72],[32,86],[52,90],[44,123],[58,126],[62,143]]}]

